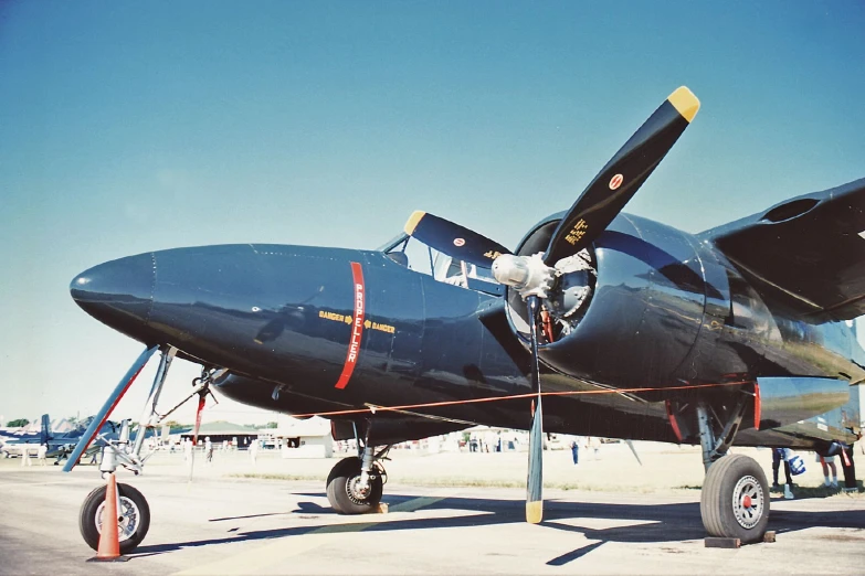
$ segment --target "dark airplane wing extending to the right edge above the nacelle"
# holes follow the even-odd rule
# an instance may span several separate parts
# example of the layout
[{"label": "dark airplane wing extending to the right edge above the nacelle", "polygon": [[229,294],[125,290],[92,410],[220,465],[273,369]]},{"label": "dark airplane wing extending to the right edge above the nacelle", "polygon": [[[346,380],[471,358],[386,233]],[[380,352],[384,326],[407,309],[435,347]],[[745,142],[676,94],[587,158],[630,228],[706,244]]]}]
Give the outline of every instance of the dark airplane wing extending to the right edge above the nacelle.
[{"label": "dark airplane wing extending to the right edge above the nacelle", "polygon": [[865,179],[788,200],[700,238],[805,319],[865,314]]}]

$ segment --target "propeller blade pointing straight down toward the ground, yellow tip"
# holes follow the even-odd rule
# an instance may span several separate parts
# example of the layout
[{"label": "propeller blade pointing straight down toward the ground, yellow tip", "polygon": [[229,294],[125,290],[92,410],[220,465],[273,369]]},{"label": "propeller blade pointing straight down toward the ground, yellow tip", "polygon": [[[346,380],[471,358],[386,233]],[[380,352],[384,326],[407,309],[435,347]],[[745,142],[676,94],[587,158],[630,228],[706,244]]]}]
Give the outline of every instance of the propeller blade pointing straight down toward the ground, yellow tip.
[{"label": "propeller blade pointing straight down toward the ground, yellow tip", "polygon": [[526,480],[526,522],[537,524],[544,519],[544,415],[540,406],[540,369],[538,366],[538,308],[540,298],[526,299],[529,313],[529,337],[531,341],[531,386],[538,393],[535,413],[529,430],[529,463]]}]

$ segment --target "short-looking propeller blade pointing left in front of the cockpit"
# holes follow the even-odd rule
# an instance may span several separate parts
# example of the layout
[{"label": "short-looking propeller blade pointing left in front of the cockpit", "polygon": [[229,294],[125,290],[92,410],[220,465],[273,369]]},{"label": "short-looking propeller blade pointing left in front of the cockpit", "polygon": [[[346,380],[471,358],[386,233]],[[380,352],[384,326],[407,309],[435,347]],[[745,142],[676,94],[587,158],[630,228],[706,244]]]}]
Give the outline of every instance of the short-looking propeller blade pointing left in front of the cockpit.
[{"label": "short-looking propeller blade pointing left in front of the cockpit", "polygon": [[482,268],[492,268],[493,260],[503,254],[510,254],[510,250],[486,236],[420,210],[409,217],[404,231],[431,248]]}]

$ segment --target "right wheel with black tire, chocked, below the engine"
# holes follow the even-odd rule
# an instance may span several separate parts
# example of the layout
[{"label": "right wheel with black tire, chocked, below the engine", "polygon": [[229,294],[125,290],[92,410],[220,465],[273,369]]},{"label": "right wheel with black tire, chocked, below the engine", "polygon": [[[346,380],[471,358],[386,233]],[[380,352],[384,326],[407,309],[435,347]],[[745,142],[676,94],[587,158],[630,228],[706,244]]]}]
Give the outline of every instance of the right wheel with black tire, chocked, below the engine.
[{"label": "right wheel with black tire, chocked, below the engine", "polygon": [[761,542],[769,524],[769,487],[753,458],[734,454],[709,467],[699,512],[710,536]]}]

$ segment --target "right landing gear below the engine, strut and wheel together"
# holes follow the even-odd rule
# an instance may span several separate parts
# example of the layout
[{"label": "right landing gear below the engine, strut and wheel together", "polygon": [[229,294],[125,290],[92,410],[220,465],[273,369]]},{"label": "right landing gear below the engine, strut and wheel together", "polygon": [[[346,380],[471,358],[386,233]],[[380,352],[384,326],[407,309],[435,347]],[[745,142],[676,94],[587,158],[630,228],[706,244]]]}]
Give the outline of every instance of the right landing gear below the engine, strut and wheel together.
[{"label": "right landing gear below the engine, strut and wheel together", "polygon": [[761,542],[769,524],[769,484],[762,468],[753,458],[727,455],[745,415],[746,398],[740,396],[721,414],[705,403],[696,406],[706,467],[699,503],[703,525],[710,536],[739,538],[745,544]]}]

